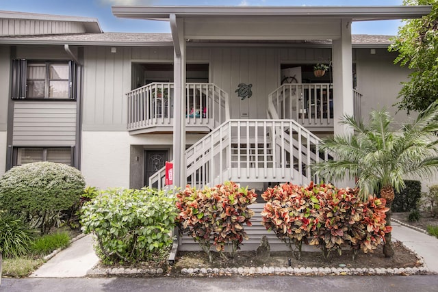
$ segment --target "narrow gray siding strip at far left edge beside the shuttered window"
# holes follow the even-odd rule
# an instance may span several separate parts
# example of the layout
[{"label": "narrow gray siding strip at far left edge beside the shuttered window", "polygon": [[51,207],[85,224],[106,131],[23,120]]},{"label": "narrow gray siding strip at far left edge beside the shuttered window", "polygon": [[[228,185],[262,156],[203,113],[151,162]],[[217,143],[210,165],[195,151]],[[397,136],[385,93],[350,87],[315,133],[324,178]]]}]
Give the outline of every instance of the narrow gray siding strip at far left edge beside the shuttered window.
[{"label": "narrow gray siding strip at far left edge beside the shuttered window", "polygon": [[0,47],[0,131],[6,131],[8,124],[8,102],[10,98],[10,49]]}]

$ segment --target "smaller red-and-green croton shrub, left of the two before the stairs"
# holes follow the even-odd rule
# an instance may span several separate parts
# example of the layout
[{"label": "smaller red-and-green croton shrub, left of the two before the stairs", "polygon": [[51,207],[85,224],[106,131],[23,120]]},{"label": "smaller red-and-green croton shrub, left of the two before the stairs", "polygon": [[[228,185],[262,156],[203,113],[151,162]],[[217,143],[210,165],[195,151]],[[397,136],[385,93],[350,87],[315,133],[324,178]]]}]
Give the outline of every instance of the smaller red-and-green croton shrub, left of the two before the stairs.
[{"label": "smaller red-and-green croton shrub, left of the two before the stairs", "polygon": [[248,239],[244,224],[251,226],[254,212],[248,205],[255,202],[257,194],[248,187],[240,187],[231,181],[214,187],[196,189],[188,185],[177,193],[177,208],[180,229],[201,245],[212,261],[210,239],[216,250],[224,257],[229,245],[231,256]]}]

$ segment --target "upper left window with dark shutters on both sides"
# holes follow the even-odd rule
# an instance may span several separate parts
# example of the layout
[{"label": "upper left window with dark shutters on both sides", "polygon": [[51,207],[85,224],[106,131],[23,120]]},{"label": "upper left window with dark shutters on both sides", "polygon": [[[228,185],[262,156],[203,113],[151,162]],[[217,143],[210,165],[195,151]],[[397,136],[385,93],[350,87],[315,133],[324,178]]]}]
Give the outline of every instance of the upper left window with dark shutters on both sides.
[{"label": "upper left window with dark shutters on both sides", "polygon": [[16,59],[12,74],[12,98],[76,98],[77,65],[73,61]]}]

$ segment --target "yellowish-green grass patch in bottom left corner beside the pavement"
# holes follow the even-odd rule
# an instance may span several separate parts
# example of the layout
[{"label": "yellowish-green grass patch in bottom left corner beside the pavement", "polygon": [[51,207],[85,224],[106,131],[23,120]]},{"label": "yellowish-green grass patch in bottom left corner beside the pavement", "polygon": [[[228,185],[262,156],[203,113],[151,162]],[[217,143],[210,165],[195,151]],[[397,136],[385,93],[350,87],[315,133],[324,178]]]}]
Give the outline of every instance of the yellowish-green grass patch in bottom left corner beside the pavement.
[{"label": "yellowish-green grass patch in bottom left corner beside the pavement", "polygon": [[42,258],[16,257],[3,258],[3,276],[23,278],[44,263]]}]

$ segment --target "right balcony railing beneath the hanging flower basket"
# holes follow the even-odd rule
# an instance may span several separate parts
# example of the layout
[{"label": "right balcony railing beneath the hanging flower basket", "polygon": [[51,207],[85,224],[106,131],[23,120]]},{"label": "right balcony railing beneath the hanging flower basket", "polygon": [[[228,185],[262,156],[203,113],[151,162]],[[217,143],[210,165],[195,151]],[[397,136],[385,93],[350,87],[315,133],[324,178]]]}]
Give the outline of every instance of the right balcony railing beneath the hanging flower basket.
[{"label": "right balcony railing beneath the hanging flower basket", "polygon": [[[361,116],[361,96],[353,90],[355,116]],[[310,128],[333,127],[333,86],[330,83],[283,84],[269,94],[272,118],[296,120]]]}]

